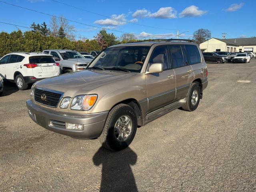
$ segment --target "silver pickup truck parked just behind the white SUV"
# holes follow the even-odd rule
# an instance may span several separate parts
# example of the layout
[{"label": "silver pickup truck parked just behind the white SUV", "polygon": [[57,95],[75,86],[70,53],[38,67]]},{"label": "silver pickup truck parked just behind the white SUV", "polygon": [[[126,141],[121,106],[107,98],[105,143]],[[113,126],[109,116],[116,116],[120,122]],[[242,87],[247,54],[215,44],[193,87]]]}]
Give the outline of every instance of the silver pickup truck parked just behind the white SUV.
[{"label": "silver pickup truck parked just behind the white SUV", "polygon": [[44,50],[43,53],[52,55],[59,62],[61,73],[84,70],[92,61],[74,50]]}]

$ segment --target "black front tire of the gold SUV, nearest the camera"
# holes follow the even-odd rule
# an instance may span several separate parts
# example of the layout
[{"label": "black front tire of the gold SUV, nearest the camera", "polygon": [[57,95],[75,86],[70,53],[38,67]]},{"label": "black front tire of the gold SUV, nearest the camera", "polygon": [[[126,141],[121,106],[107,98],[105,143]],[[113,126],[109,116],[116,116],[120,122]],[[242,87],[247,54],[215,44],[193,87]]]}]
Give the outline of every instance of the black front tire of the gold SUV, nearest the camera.
[{"label": "black front tire of the gold SUV, nearest the camera", "polygon": [[[120,128],[119,129],[115,128],[115,127],[120,127],[119,122],[121,118],[124,119],[124,117],[125,117],[124,122],[127,122],[126,117],[130,118],[130,121],[128,123],[128,127],[130,127],[130,134],[128,134],[128,136],[126,136],[125,138],[126,134],[123,133],[122,139],[124,140],[118,140],[119,138],[118,136],[120,136],[119,139],[121,139],[121,135],[122,135],[122,133],[120,133],[119,131],[121,132],[123,131],[127,133],[129,132],[128,131],[129,129],[125,127],[123,127],[123,130],[120,130]],[[136,130],[137,130],[137,117],[134,109],[131,106],[126,104],[118,104],[112,110],[110,110],[105,122],[105,126],[103,128],[103,131],[99,137],[99,141],[104,148],[112,151],[119,151],[130,145],[130,143],[132,142],[136,134]]]}]

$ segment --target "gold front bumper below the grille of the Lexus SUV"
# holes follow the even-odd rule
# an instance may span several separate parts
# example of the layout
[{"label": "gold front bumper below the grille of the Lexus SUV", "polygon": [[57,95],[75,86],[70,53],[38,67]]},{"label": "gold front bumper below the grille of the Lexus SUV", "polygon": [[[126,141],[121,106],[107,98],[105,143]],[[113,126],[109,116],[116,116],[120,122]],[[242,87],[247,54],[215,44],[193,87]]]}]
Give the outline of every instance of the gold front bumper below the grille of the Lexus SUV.
[{"label": "gold front bumper below the grille of the Lexus SUV", "polygon": [[[38,125],[77,139],[94,139],[100,136],[108,116],[108,111],[93,114],[63,113],[49,110],[27,100],[30,118]],[[84,130],[68,130],[65,123],[83,124]]]}]

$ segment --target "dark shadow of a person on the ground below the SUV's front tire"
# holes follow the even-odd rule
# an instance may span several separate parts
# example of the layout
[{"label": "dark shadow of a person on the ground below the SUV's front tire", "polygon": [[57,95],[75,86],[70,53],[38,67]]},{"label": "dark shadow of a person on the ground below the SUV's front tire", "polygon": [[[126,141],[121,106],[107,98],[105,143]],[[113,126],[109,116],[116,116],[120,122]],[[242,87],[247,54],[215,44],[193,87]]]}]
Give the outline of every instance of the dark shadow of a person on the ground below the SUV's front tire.
[{"label": "dark shadow of a person on the ground below the SUV's front tire", "polygon": [[136,164],[137,155],[129,147],[112,152],[101,147],[93,157],[96,166],[102,164],[101,192],[137,192],[130,165]]}]

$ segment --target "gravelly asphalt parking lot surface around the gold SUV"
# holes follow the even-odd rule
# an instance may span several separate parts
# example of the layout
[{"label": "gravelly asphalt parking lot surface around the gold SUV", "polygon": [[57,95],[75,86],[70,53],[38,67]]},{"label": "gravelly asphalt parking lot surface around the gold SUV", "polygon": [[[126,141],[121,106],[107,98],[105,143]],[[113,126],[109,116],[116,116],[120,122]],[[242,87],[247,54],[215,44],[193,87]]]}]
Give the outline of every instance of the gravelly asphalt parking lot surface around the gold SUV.
[{"label": "gravelly asphalt parking lot surface around the gold SUV", "polygon": [[211,63],[208,73],[197,110],[138,128],[120,152],[38,126],[27,114],[30,90],[6,84],[0,191],[256,191],[256,59]]}]

